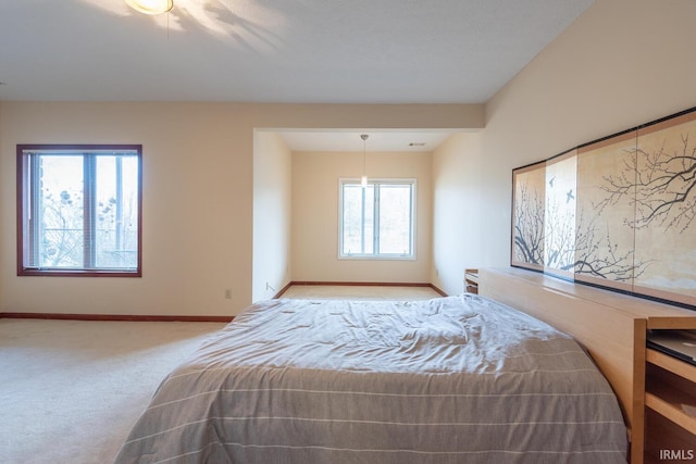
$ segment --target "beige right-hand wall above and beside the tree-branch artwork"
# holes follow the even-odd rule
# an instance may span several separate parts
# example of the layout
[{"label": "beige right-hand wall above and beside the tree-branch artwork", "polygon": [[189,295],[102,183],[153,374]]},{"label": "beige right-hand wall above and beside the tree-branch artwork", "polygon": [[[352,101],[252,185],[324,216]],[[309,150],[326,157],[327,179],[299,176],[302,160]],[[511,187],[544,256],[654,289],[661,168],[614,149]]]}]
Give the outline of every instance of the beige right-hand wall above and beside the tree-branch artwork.
[{"label": "beige right-hand wall above and beside the tree-branch artwork", "polygon": [[696,106],[695,17],[693,0],[596,0],[487,103],[481,150],[450,148],[478,170],[461,200],[482,208],[451,231],[467,248],[448,268],[509,264],[513,167]]}]

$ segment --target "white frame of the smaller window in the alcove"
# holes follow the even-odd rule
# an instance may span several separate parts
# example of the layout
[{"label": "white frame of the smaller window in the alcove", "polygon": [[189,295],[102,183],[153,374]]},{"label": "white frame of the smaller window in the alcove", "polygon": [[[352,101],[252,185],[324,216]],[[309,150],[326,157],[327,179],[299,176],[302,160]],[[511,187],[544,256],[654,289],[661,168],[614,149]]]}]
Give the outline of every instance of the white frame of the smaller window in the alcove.
[{"label": "white frame of the smaller window in the alcove", "polygon": [[[415,261],[417,260],[417,204],[418,204],[418,179],[417,178],[369,178],[368,185],[410,185],[411,187],[411,209],[410,209],[410,253],[344,253],[344,186],[345,185],[361,185],[360,178],[339,178],[338,179],[338,259],[339,260],[356,260],[356,261]],[[375,195],[375,206],[373,215],[376,217],[380,214],[378,210],[378,193]],[[378,221],[375,222],[378,225]],[[373,243],[375,247],[378,242],[380,230],[375,227],[373,231]],[[374,249],[374,248],[373,248]]]}]

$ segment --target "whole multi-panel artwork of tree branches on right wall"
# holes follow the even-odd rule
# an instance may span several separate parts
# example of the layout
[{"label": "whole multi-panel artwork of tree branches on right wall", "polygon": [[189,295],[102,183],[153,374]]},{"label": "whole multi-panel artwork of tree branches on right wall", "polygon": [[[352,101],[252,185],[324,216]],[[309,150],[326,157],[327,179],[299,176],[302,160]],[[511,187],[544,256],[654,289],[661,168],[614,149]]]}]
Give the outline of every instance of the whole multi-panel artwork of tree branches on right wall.
[{"label": "whole multi-panel artwork of tree branches on right wall", "polygon": [[696,109],[512,181],[513,266],[696,309]]}]

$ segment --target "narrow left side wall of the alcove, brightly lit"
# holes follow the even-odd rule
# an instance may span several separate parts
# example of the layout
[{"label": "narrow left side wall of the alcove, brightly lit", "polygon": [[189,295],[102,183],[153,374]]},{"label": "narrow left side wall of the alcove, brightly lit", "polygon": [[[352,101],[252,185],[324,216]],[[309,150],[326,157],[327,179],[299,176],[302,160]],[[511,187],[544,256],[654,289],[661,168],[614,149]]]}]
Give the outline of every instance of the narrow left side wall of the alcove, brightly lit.
[{"label": "narrow left side wall of the alcove, brightly lit", "polygon": [[273,298],[290,281],[293,153],[273,131],[253,142],[253,278],[251,300]]}]

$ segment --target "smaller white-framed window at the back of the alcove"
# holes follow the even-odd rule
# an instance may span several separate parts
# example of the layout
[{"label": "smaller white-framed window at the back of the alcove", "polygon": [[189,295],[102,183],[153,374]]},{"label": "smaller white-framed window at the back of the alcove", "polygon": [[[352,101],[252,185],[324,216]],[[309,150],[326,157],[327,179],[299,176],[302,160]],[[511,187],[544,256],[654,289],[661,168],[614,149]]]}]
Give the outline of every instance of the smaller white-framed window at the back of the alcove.
[{"label": "smaller white-framed window at the back of the alcove", "polygon": [[412,260],[415,180],[340,180],[340,258]]}]

